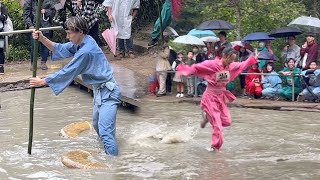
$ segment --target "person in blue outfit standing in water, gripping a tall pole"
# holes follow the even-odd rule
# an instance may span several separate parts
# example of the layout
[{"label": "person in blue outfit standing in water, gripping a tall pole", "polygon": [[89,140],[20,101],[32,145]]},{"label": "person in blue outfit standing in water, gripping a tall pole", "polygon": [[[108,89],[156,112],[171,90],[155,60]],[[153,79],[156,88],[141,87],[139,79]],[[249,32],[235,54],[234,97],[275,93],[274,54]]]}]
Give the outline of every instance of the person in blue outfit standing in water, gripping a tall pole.
[{"label": "person in blue outfit standing in water, gripping a tall pole", "polygon": [[81,17],[70,17],[65,23],[67,38],[70,42],[55,43],[42,32],[34,31],[37,39],[52,53],[52,60],[73,57],[60,71],[41,79],[30,78],[31,87],[48,85],[55,95],[61,93],[78,75],[93,86],[93,127],[101,138],[105,152],[118,155],[116,142],[116,113],[120,104],[120,88],[113,76],[113,69],[96,41],[88,33],[88,24]]}]

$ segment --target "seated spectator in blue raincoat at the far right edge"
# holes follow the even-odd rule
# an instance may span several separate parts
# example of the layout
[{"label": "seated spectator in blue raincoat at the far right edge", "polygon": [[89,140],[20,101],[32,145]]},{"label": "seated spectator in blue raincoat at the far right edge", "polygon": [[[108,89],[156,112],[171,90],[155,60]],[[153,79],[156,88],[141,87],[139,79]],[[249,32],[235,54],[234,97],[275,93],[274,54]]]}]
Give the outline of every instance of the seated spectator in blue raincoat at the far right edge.
[{"label": "seated spectator in blue raincoat at the far right edge", "polygon": [[311,62],[310,69],[302,71],[307,87],[299,94],[298,101],[317,100],[320,98],[320,69],[316,62]]}]

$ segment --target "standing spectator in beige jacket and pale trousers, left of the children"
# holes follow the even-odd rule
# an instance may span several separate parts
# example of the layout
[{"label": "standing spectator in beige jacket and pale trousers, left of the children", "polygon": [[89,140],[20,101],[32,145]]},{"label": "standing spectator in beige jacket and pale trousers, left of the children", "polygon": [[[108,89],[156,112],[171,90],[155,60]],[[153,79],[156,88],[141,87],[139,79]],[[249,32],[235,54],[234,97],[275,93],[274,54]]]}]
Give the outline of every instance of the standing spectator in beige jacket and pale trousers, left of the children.
[{"label": "standing spectator in beige jacket and pale trousers, left of the children", "polygon": [[160,57],[158,57],[156,71],[158,73],[158,81],[159,81],[159,90],[157,96],[165,96],[166,95],[166,79],[169,70],[171,70],[171,66],[169,63],[169,47],[165,47],[164,51],[160,53]]}]

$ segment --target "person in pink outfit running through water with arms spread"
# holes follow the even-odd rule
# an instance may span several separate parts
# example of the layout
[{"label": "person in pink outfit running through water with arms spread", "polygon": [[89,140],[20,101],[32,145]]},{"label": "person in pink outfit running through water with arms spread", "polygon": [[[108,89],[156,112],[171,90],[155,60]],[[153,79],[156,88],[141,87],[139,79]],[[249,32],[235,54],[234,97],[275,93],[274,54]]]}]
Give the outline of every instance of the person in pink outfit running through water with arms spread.
[{"label": "person in pink outfit running through water with arms spread", "polygon": [[184,76],[196,75],[208,82],[208,87],[201,99],[204,128],[207,122],[212,125],[211,148],[219,150],[223,144],[222,127],[230,126],[231,117],[226,101],[232,102],[236,97],[226,89],[226,85],[233,81],[247,67],[257,63],[257,55],[250,56],[246,61],[234,62],[237,52],[233,48],[225,48],[222,58],[214,61],[204,61],[192,66],[180,65],[178,73]]}]

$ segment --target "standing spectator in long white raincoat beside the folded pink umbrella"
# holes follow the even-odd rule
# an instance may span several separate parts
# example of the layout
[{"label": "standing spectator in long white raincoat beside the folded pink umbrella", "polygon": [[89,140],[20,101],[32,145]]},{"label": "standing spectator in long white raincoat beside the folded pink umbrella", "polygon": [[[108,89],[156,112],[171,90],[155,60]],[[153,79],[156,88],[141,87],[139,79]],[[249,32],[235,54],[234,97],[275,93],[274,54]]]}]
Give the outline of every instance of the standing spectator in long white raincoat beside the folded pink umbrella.
[{"label": "standing spectator in long white raincoat beside the folded pink umbrella", "polygon": [[125,54],[128,54],[133,59],[131,24],[137,17],[140,0],[105,0],[103,6],[107,7],[109,21],[114,22],[118,30],[119,58],[123,58]]}]

